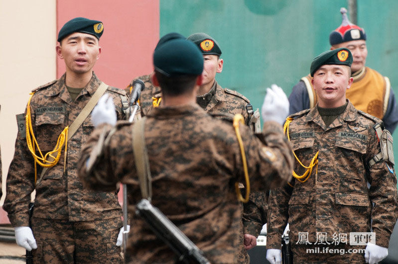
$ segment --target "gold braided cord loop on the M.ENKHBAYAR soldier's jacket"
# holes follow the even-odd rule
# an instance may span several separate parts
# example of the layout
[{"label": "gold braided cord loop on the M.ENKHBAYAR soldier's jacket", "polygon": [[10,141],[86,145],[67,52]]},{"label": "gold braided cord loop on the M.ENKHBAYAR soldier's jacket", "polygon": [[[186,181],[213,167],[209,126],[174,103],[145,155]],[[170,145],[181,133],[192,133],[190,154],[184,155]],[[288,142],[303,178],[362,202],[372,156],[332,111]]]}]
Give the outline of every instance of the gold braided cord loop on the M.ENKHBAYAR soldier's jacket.
[{"label": "gold braided cord loop on the M.ENKHBAYAR soldier's jacket", "polygon": [[[64,130],[59,135],[57,144],[55,145],[54,150],[48,152],[45,156],[43,156],[43,154],[39,148],[39,145],[37,143],[36,137],[34,136],[34,133],[33,133],[32,119],[31,119],[31,115],[30,115],[30,100],[32,99],[34,92],[31,92],[29,94],[30,94],[30,98],[27,103],[26,116],[25,116],[26,143],[27,143],[29,151],[32,154],[33,159],[34,159],[34,182],[36,183],[36,180],[37,180],[36,163],[44,168],[54,167],[58,163],[59,158],[61,157],[62,146],[64,145],[64,143],[65,143],[65,164],[64,164],[64,171],[65,171],[66,153],[67,153],[66,151],[67,151],[67,144],[68,144],[67,138],[68,138],[69,126],[65,127]],[[36,151],[35,151],[36,147],[37,147],[37,150],[38,150],[40,156],[36,155]],[[54,153],[57,154],[55,157],[53,155]],[[51,158],[52,161],[49,160],[48,158]]]}]

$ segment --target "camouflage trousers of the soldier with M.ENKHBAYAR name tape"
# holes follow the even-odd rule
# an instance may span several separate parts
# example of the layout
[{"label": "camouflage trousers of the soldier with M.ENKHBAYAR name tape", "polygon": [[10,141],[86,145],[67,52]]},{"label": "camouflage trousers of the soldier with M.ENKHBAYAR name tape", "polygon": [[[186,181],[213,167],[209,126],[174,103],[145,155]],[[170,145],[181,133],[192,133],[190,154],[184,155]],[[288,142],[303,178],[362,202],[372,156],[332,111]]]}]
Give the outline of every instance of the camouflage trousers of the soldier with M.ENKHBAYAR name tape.
[{"label": "camouflage trousers of the soldier with M.ENKHBAYAR name tape", "polygon": [[32,217],[33,263],[123,263],[116,246],[120,217],[69,222]]}]

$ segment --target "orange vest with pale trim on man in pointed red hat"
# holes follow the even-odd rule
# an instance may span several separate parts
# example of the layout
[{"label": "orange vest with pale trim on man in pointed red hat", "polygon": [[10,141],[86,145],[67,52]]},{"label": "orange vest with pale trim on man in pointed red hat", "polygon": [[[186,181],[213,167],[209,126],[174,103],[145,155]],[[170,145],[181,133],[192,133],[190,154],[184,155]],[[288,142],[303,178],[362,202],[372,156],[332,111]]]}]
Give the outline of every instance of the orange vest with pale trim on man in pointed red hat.
[{"label": "orange vest with pale trim on man in pointed red hat", "polygon": [[[368,67],[362,68],[352,77],[354,82],[351,88],[347,89],[346,97],[358,110],[382,119],[389,104],[390,79]],[[312,87],[311,77],[307,75],[301,80],[307,87],[310,108],[312,108],[317,103],[318,97]]]}]

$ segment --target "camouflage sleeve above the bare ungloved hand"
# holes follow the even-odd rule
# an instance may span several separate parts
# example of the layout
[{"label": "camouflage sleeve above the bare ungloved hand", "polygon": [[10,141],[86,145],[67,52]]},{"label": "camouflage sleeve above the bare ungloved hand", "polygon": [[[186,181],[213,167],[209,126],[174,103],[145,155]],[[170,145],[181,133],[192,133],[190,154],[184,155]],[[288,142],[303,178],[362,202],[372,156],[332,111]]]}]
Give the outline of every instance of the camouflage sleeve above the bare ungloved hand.
[{"label": "camouflage sleeve above the bare ungloved hand", "polygon": [[243,233],[258,237],[266,224],[268,191],[251,192],[249,202],[243,204]]}]

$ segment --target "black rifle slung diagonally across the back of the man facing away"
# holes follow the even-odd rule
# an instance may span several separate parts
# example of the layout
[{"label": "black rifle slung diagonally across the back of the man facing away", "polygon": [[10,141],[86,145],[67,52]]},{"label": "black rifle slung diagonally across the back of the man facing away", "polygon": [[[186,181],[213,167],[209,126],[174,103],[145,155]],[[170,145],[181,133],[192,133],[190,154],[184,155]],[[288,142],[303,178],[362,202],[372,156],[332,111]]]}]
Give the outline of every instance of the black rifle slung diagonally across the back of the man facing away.
[{"label": "black rifle slung diagonally across the back of the man facing away", "polygon": [[135,208],[136,213],[145,220],[156,237],[177,254],[178,262],[210,264],[203,252],[147,199],[142,199]]}]

